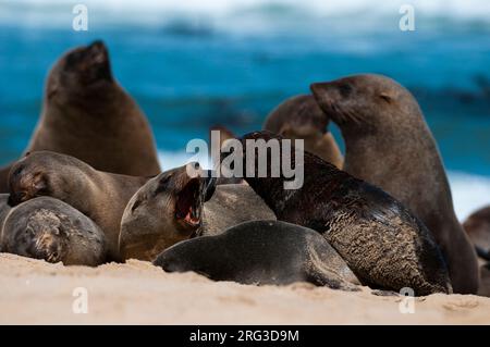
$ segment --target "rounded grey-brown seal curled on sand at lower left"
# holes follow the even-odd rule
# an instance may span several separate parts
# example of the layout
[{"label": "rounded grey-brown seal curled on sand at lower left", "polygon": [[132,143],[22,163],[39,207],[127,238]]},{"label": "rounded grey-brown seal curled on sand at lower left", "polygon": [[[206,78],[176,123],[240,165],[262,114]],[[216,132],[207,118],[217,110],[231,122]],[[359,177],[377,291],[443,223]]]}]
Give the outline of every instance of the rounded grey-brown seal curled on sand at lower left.
[{"label": "rounded grey-brown seal curled on sand at lower left", "polygon": [[5,219],[0,243],[5,252],[95,267],[106,260],[102,231],[68,203],[35,198],[13,208]]}]

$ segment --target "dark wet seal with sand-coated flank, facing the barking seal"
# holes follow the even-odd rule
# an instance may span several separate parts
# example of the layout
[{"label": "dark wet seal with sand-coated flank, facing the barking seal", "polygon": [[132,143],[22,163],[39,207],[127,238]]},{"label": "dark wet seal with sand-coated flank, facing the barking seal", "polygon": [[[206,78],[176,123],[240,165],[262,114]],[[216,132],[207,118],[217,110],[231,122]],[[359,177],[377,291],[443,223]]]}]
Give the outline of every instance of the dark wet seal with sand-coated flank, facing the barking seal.
[{"label": "dark wet seal with sand-coated flank, facing the barking seal", "polygon": [[[257,132],[245,135],[242,144],[246,148],[246,141],[279,138]],[[279,148],[284,150],[282,140]],[[243,153],[244,162],[248,152]],[[240,158],[240,152],[235,156]],[[387,193],[308,152],[304,152],[304,163],[292,158],[293,166],[303,168],[303,186],[284,189],[286,178],[282,173],[280,177],[258,177],[259,158],[257,153],[254,157],[256,177],[245,179],[278,220],[321,233],[362,283],[396,292],[411,287],[417,296],[452,292],[445,262],[432,235]],[[266,162],[271,172],[270,150]]]}]

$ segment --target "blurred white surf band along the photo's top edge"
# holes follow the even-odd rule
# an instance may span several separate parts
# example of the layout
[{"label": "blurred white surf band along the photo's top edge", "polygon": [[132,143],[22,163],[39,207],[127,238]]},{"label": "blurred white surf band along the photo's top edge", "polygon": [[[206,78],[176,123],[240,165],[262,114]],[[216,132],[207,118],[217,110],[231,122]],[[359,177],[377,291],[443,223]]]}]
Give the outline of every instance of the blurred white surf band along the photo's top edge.
[{"label": "blurred white surf band along the photo's top edge", "polygon": [[[16,25],[57,26],[71,22],[76,3],[88,7],[94,20],[119,24],[161,25],[174,18],[209,21],[213,27],[230,30],[270,29],[287,21],[290,29],[299,22],[348,17],[379,25],[377,18],[399,18],[406,0],[0,0],[0,20]],[[457,21],[478,20],[490,24],[488,0],[412,0],[416,15]],[[2,23],[0,22],[0,23]],[[397,22],[396,22],[397,23]],[[304,23],[303,23],[304,24]]]}]

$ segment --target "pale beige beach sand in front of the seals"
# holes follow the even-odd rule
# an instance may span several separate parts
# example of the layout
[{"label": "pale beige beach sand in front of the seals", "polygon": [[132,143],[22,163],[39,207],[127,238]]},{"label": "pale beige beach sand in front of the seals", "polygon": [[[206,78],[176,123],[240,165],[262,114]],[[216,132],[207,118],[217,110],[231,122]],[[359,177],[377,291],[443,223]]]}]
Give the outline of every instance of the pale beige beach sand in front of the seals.
[{"label": "pale beige beach sand in front of the seals", "polygon": [[[473,295],[416,298],[415,312],[401,313],[403,298],[375,296],[368,288],[247,286],[195,273],[169,274],[136,260],[63,267],[0,253],[0,287],[1,324],[490,323],[490,298]],[[87,313],[79,312],[84,302]]]}]

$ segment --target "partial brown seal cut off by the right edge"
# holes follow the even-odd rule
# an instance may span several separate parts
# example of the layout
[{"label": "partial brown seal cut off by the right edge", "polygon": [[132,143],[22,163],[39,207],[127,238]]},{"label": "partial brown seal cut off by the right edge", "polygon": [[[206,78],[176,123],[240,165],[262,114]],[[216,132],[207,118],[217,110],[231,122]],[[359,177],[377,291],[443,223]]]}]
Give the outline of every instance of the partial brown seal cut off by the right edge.
[{"label": "partial brown seal cut off by the right edge", "polygon": [[490,261],[490,206],[471,213],[463,223],[478,256]]}]

